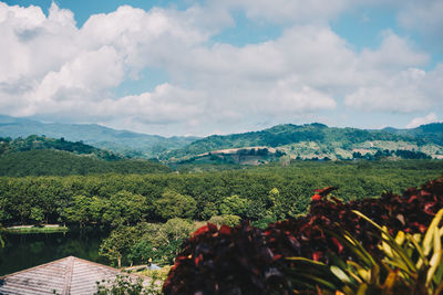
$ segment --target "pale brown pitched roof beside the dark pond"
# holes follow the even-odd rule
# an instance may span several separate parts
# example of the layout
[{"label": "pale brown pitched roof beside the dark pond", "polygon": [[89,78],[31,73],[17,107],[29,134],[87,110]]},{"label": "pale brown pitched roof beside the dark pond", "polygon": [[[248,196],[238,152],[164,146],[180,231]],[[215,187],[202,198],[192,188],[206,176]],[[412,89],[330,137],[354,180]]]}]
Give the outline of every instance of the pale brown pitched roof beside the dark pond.
[{"label": "pale brown pitched roof beside the dark pond", "polygon": [[[94,294],[96,282],[113,282],[120,270],[68,256],[0,277],[0,294]],[[146,277],[131,274],[131,278]]]}]

